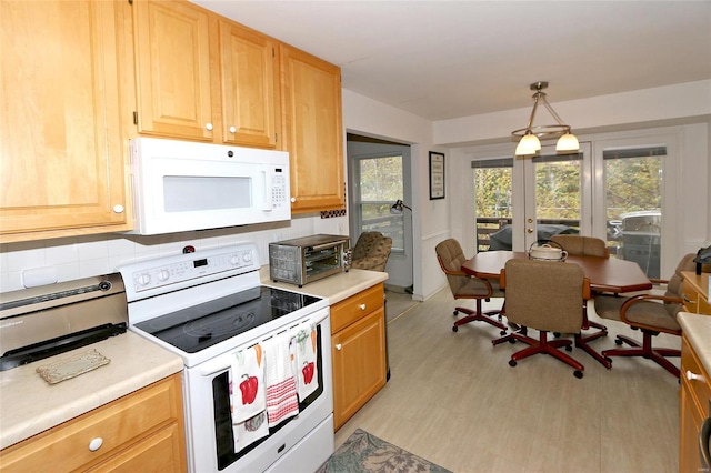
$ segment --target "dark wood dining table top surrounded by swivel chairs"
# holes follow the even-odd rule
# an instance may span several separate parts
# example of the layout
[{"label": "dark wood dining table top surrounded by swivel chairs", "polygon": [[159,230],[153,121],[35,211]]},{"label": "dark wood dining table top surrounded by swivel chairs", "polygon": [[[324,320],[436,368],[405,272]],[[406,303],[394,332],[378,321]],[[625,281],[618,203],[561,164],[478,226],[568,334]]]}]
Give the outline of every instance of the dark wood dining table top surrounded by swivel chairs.
[{"label": "dark wood dining table top surrounded by swivel chairs", "polygon": [[[482,251],[462,264],[462,271],[480,279],[498,280],[507,261],[528,258],[523,251]],[[570,254],[565,263],[582,268],[593,291],[623,293],[652,289],[652,282],[633,261]]]}]

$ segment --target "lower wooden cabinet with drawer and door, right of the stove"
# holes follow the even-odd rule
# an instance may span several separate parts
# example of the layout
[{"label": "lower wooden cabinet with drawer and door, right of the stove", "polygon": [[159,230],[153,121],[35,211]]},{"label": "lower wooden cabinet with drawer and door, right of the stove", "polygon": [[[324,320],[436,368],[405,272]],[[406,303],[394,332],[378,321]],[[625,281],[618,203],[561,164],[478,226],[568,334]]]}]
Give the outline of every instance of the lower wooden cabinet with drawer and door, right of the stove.
[{"label": "lower wooden cabinet with drawer and door, right of the stove", "polygon": [[331,308],[333,423],[339,430],[387,382],[382,283]]}]

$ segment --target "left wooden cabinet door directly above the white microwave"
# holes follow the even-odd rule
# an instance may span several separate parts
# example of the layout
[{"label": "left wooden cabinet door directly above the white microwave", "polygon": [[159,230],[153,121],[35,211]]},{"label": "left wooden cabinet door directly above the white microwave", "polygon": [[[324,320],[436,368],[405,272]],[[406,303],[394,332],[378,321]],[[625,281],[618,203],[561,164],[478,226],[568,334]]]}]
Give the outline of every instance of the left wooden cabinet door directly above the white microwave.
[{"label": "left wooden cabinet door directly above the white microwave", "polygon": [[212,141],[209,13],[189,2],[133,2],[138,132]]}]

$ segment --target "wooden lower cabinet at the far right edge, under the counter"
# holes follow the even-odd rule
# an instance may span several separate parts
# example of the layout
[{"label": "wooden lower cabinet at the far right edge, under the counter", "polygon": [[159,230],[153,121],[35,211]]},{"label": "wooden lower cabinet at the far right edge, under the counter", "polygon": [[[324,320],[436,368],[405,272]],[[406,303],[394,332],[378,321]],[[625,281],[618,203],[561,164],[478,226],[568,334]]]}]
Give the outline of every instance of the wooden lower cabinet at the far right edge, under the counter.
[{"label": "wooden lower cabinet at the far right edge, under the counter", "polygon": [[681,342],[681,392],[680,424],[681,444],[679,449],[679,471],[701,472],[699,456],[699,430],[709,414],[711,402],[711,378],[705,372],[699,356],[689,344],[687,336]]}]

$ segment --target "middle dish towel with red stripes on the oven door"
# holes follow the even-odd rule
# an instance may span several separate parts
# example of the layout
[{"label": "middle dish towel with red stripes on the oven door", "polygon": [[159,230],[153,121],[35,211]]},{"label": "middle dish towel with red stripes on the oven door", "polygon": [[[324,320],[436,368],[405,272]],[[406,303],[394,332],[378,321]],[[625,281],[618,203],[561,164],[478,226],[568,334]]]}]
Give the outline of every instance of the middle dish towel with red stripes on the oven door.
[{"label": "middle dish towel with red stripes on the oven door", "polygon": [[290,332],[272,336],[264,345],[264,384],[269,426],[299,413],[293,373],[293,336]]}]

